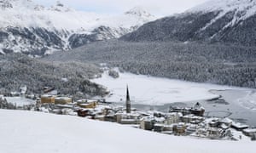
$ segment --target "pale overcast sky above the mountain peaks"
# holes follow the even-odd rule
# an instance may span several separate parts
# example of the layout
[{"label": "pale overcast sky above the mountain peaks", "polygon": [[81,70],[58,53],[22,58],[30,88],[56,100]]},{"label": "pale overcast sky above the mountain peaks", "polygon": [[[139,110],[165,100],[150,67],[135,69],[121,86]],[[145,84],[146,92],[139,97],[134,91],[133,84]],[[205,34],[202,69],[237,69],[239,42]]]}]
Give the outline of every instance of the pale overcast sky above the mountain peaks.
[{"label": "pale overcast sky above the mountain peaks", "polygon": [[[52,5],[55,0],[34,0],[35,2]],[[151,14],[166,16],[183,12],[207,0],[60,0],[72,8],[102,14],[121,14],[134,7],[142,7]]]}]

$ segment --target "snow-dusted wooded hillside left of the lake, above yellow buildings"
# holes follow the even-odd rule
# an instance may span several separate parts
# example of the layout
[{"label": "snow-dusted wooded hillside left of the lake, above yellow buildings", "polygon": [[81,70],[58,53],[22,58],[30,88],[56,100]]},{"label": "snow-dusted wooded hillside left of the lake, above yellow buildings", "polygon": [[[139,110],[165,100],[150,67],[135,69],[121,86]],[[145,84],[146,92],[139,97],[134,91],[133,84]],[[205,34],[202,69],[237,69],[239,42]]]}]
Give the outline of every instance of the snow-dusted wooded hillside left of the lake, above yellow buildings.
[{"label": "snow-dusted wooded hillside left of the lake, above yellow buildings", "polygon": [[102,95],[106,89],[89,81],[101,73],[96,65],[81,62],[44,62],[24,54],[0,55],[0,93],[20,91],[20,86],[26,85],[32,94],[42,94],[44,87],[53,87],[61,94]]}]

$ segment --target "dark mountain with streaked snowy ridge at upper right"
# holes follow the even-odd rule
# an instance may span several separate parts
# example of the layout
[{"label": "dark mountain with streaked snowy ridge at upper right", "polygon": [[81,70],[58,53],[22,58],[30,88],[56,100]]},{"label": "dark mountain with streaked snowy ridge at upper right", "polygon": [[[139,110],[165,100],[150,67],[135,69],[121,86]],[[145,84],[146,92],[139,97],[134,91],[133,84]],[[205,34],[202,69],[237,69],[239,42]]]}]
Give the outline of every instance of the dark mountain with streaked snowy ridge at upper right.
[{"label": "dark mountain with streaked snowy ridge at upper right", "polygon": [[210,0],[183,14],[145,24],[129,41],[203,41],[256,44],[256,0]]}]

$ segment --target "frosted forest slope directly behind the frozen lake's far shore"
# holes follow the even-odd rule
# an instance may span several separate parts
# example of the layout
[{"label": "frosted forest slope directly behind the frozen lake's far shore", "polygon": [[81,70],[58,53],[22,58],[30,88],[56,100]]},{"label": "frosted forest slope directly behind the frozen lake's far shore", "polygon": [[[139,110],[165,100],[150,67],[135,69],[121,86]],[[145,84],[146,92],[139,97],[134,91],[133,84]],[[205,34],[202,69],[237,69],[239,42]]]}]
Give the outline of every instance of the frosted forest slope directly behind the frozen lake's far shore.
[{"label": "frosted forest slope directly behind the frozen lake's far shore", "polygon": [[135,74],[256,88],[255,51],[255,47],[198,42],[108,40],[44,60],[108,63]]}]

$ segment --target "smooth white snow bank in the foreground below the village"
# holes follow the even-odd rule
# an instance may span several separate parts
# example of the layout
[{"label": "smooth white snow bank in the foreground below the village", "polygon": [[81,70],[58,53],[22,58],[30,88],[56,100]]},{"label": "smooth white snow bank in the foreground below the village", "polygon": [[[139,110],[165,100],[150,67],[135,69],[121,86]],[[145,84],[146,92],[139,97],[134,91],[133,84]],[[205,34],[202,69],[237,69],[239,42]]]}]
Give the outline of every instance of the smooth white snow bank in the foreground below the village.
[{"label": "smooth white snow bank in the foreground below the village", "polygon": [[78,116],[0,110],[0,152],[254,152],[253,142],[175,137]]}]

